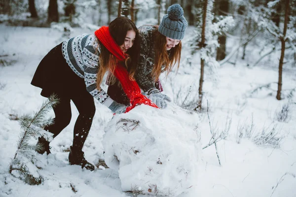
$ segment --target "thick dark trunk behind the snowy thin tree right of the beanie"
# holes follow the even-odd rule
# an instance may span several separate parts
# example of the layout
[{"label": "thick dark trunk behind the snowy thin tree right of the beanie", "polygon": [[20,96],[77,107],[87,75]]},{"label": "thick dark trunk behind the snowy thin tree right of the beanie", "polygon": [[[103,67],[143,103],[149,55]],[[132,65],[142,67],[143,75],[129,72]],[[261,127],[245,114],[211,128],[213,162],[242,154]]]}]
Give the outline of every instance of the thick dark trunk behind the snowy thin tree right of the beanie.
[{"label": "thick dark trunk behind the snowy thin tree right of the beanie", "polygon": [[[221,0],[216,1],[216,6],[218,7],[218,16],[226,16],[229,10],[229,1]],[[223,60],[226,56],[226,35],[223,33],[218,37],[218,43],[220,46],[217,48],[216,60]]]}]

